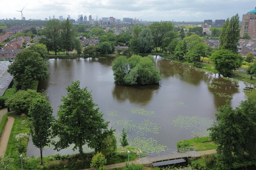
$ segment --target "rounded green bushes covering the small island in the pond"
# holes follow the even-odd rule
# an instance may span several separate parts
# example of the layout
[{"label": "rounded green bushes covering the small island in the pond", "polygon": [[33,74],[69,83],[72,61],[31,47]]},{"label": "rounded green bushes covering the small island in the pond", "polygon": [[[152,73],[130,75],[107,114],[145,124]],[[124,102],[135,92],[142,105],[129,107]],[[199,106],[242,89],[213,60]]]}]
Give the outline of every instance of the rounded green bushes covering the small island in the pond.
[{"label": "rounded green bushes covering the small island in the pond", "polygon": [[133,55],[129,59],[117,57],[112,62],[114,80],[118,84],[153,84],[161,80],[159,71],[150,57]]}]

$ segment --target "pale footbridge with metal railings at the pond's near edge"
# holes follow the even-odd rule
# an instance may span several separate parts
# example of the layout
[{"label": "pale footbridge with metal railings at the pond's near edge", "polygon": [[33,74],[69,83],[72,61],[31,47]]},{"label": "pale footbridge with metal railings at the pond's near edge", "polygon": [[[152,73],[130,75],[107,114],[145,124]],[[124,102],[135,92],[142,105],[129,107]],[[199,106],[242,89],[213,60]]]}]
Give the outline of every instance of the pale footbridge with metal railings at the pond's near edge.
[{"label": "pale footbridge with metal railings at the pond's near edge", "polygon": [[196,151],[196,147],[178,148],[139,154],[138,159],[141,164],[150,164],[172,159],[200,157],[201,153],[202,151]]}]

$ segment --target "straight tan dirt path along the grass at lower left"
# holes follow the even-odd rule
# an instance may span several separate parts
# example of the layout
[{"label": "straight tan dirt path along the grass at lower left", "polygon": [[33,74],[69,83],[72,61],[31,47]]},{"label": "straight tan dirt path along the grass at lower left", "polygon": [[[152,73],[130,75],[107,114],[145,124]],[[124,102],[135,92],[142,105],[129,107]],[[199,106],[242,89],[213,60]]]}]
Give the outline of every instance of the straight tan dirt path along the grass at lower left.
[{"label": "straight tan dirt path along the grass at lower left", "polygon": [[11,134],[12,125],[14,124],[14,117],[8,117],[5,124],[4,132],[0,139],[0,157],[4,157],[8,140]]}]

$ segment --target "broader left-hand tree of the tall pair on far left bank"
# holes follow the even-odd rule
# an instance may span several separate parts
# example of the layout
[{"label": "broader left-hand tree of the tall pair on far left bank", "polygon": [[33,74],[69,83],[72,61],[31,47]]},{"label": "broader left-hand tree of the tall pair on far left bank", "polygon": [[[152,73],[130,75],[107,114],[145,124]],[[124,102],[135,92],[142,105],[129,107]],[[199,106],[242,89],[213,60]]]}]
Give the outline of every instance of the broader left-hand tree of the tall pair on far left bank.
[{"label": "broader left-hand tree of the tall pair on far left bank", "polygon": [[60,49],[60,21],[58,19],[52,19],[46,22],[44,28],[44,36],[40,42],[45,44],[48,51],[54,51],[55,55]]}]

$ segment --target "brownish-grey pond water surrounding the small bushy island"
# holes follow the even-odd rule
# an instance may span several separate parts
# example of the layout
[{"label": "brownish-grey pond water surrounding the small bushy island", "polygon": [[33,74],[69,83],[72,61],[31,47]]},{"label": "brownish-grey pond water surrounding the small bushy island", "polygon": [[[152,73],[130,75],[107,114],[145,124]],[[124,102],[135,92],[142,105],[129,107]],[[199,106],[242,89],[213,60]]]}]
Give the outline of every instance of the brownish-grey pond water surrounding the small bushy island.
[{"label": "brownish-grey pond water surrounding the small bushy island", "polygon": [[[230,99],[232,106],[244,100],[242,81],[223,79],[218,74],[200,72],[186,64],[156,57],[162,80],[159,84],[126,86],[114,83],[111,63],[114,57],[50,59],[48,80],[39,85],[49,93],[56,116],[61,96],[71,81],[80,80],[80,87],[91,91],[103,118],[116,129],[119,143],[124,127],[129,146],[144,152],[176,148],[179,140],[206,136],[215,120],[216,109]],[[73,154],[72,147],[60,152],[47,147],[43,155]],[[90,149],[84,147],[85,152]],[[39,149],[30,140],[27,156],[39,157]]]}]

